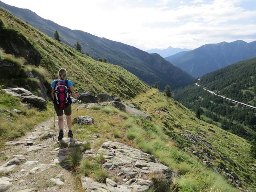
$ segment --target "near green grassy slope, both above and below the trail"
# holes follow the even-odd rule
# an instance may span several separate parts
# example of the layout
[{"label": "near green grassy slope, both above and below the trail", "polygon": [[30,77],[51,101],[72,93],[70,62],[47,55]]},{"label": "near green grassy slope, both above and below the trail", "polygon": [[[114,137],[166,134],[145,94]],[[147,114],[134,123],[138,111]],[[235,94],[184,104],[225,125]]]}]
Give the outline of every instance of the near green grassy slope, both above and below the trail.
[{"label": "near green grassy slope, both above and below the trail", "polygon": [[[217,153],[220,153],[223,156],[228,156],[228,158],[236,162],[236,167],[218,158],[214,160],[213,164],[217,165],[222,162],[225,164],[225,167],[234,170],[238,174],[250,174],[251,185],[249,188],[255,186],[255,176],[252,175],[252,171],[250,170],[253,160],[250,156],[247,156],[250,146],[245,140],[232,134],[227,134],[228,139],[221,139],[219,142],[220,138],[222,138],[221,135],[226,134],[224,130],[214,127],[216,134],[208,132],[207,129],[208,126],[211,126],[210,124],[196,120],[194,114],[178,102],[172,99],[166,99],[162,93],[155,89],[148,89],[145,84],[126,70],[111,64],[96,62],[76,52],[72,48],[56,42],[6,11],[0,11],[0,18],[6,26],[19,30],[35,45],[43,57],[41,65],[44,66],[52,77],[56,75],[58,68],[63,66],[69,70],[70,78],[76,82],[80,90],[90,89],[93,92],[105,91],[110,94],[122,96],[123,98],[136,96],[140,93],[139,96],[130,102],[136,102],[140,105],[142,110],[152,116],[153,122],[156,124],[154,125],[147,120],[127,117],[127,115],[122,113],[118,115],[119,112],[115,113],[116,110],[114,109],[102,110],[100,113],[98,110],[95,112],[92,110],[81,110],[80,114],[90,114],[95,118],[96,123],[89,126],[88,129],[80,130],[81,134],[76,135],[78,138],[83,135],[84,139],[88,139],[86,138],[87,134],[83,133],[96,131],[102,136],[98,142],[100,144],[104,139],[114,140],[112,132],[116,136],[118,136],[118,132],[120,132],[120,136],[122,136],[122,132],[125,132],[125,137],[117,138],[116,140],[154,154],[161,162],[181,174],[182,178],[178,179],[178,185],[181,191],[199,191],[200,189],[205,191],[211,189],[212,191],[215,189],[236,191],[236,189],[228,186],[221,176],[198,163],[198,160],[194,156],[191,156],[188,150],[182,147],[182,144],[189,148],[193,148],[193,146],[180,135],[175,134],[184,130],[202,134],[202,130],[205,130],[208,134],[208,142],[214,147],[214,151],[210,151],[212,155],[217,156]],[[3,98],[3,101],[5,100]],[[7,100],[10,99],[8,98]],[[23,110],[18,103],[13,107]],[[160,108],[165,108],[169,114],[161,111],[158,112]],[[33,111],[32,114],[34,116],[40,115]],[[30,118],[34,116],[30,116]],[[17,120],[21,121],[24,117],[20,117]],[[163,122],[166,122],[166,126],[169,126],[168,129],[163,127]],[[174,132],[170,131],[172,129]],[[170,136],[173,135],[175,135],[176,141],[170,139]],[[234,143],[238,144],[239,148],[234,148]],[[198,148],[197,150],[200,149]],[[238,152],[240,156],[245,155],[245,157],[239,158],[237,156]],[[242,181],[242,178],[240,180]]]}]

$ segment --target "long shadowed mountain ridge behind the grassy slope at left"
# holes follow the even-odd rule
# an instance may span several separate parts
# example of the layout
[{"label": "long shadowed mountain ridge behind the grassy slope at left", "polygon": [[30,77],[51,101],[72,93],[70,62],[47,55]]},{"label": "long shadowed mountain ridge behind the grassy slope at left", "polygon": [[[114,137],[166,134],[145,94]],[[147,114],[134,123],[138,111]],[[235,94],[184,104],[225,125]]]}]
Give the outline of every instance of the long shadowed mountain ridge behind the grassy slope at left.
[{"label": "long shadowed mountain ridge behind the grassy slope at left", "polygon": [[161,89],[164,89],[166,84],[170,84],[172,89],[175,89],[194,80],[190,74],[173,66],[158,54],[148,54],[133,46],[99,38],[80,30],[71,30],[50,20],[43,19],[27,9],[9,6],[3,2],[0,2],[0,7],[12,12],[12,14],[51,37],[54,36],[55,30],[58,30],[60,40],[63,43],[73,47],[79,41],[84,53],[88,52],[96,60],[107,58],[108,62],[122,66],[147,84],[152,85],[158,82]]}]

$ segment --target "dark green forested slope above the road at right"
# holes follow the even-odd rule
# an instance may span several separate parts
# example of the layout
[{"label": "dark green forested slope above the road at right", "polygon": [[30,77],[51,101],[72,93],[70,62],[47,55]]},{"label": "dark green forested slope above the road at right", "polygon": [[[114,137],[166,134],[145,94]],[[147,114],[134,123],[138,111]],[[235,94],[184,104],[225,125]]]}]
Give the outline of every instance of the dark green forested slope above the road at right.
[{"label": "dark green forested slope above the road at right", "polygon": [[198,84],[233,100],[256,106],[256,58],[206,74]]}]

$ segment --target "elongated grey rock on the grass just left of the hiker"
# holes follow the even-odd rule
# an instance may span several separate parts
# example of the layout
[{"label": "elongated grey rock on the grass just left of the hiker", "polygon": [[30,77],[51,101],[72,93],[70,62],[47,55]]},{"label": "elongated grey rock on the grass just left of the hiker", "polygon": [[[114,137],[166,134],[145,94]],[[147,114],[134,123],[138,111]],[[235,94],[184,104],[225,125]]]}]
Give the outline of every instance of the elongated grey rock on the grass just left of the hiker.
[{"label": "elongated grey rock on the grass just left of the hiker", "polygon": [[15,97],[21,98],[22,102],[29,103],[36,108],[40,108],[40,109],[46,108],[47,102],[44,98],[35,96],[32,94],[32,92],[24,88],[8,88],[8,89],[4,89],[4,91]]}]

